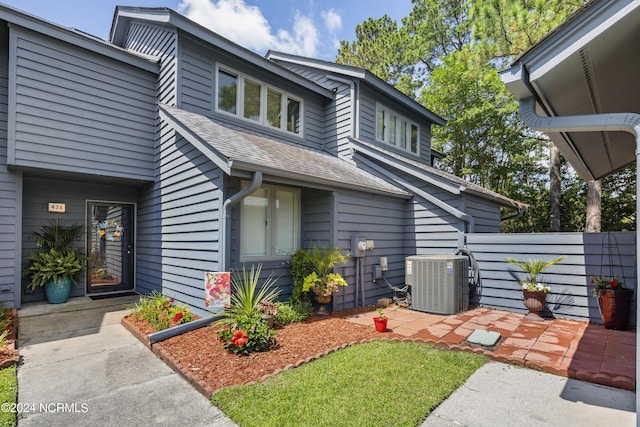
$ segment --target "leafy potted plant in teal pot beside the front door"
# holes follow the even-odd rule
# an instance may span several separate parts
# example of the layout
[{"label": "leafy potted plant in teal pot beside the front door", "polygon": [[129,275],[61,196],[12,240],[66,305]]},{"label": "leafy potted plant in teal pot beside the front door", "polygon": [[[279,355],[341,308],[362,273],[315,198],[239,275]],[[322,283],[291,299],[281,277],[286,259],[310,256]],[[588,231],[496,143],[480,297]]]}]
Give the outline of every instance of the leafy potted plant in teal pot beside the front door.
[{"label": "leafy potted plant in teal pot beside the front door", "polygon": [[36,245],[43,248],[29,257],[23,276],[29,278],[28,288],[44,286],[47,301],[61,304],[69,299],[71,284],[77,285],[77,276],[85,269],[86,257],[72,249],[71,243],[82,234],[82,226],[64,225],[55,220],[34,232]]}]

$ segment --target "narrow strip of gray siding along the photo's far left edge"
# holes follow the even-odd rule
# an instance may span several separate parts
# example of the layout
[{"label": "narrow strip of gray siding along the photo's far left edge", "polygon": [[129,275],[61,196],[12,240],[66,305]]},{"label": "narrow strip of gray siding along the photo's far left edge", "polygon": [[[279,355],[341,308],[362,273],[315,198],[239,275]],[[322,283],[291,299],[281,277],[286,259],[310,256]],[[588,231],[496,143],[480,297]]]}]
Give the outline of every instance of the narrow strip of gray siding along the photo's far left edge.
[{"label": "narrow strip of gray siding along the photo's far left edge", "polygon": [[19,307],[20,290],[15,283],[22,250],[20,240],[21,175],[7,169],[8,114],[8,32],[0,26],[0,301],[6,307]]}]

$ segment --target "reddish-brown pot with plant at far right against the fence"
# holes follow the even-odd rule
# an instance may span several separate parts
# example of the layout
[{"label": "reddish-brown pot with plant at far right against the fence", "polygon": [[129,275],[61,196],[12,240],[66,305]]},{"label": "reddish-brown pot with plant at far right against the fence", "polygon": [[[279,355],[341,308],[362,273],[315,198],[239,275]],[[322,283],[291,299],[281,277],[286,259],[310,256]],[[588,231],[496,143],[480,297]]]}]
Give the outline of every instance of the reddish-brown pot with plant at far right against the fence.
[{"label": "reddish-brown pot with plant at far right against the fence", "polygon": [[626,331],[633,289],[626,289],[616,276],[596,276],[591,279],[591,284],[594,285],[592,295],[598,299],[598,309],[604,327]]}]

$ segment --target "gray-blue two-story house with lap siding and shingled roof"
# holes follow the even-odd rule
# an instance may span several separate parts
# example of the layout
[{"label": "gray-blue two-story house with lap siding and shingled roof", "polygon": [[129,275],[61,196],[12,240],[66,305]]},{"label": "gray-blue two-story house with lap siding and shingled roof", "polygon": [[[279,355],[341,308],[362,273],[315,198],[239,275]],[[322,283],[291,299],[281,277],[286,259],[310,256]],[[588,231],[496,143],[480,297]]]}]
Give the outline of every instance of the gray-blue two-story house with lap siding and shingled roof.
[{"label": "gray-blue two-story house with lap siding and shingled roof", "polygon": [[[105,17],[106,18],[106,17]],[[432,166],[445,121],[373,74],[259,56],[166,8],[118,7],[109,41],[0,6],[0,299],[20,307],[32,232],[80,222],[75,296],[159,290],[205,313],[204,276],[351,248],[365,301],[405,258],[453,253],[521,206]],[[355,262],[341,267],[355,283]],[[356,305],[355,286],[334,309]]]}]

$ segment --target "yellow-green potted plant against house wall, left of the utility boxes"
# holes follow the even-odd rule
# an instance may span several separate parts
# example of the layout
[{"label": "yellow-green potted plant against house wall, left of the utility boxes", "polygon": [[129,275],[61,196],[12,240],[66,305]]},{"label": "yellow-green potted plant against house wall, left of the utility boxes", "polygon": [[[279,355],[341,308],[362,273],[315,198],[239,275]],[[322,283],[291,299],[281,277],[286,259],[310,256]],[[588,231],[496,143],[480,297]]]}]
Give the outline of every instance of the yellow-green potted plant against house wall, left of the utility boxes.
[{"label": "yellow-green potted plant against house wall, left of the utility boxes", "polygon": [[304,278],[302,290],[311,290],[320,304],[316,312],[319,315],[328,315],[326,305],[331,302],[333,294],[338,292],[341,286],[347,286],[344,278],[333,273],[336,265],[342,264],[349,259],[349,253],[334,247],[331,249],[313,248],[309,251],[309,260],[313,265],[313,272]]}]

